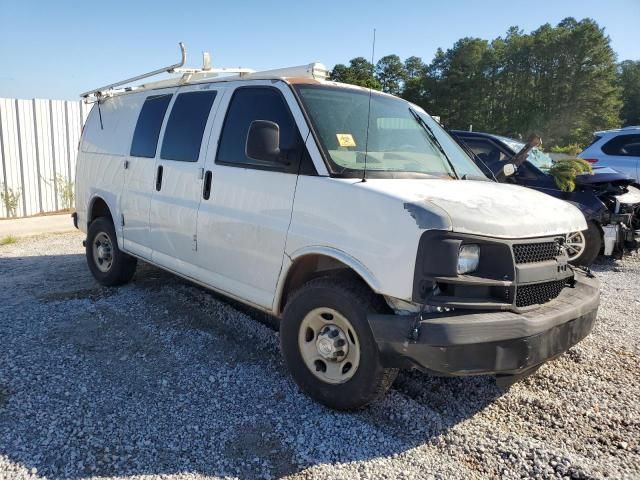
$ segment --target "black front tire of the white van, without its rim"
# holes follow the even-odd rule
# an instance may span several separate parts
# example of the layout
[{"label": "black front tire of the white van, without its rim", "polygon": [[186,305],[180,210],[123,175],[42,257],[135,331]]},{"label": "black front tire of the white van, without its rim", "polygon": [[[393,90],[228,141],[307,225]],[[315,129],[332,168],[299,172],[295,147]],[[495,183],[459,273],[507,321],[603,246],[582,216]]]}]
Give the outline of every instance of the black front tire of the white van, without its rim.
[{"label": "black front tire of the white van, without its rim", "polygon": [[[336,310],[346,317],[359,341],[359,366],[344,383],[332,384],[317,378],[305,364],[298,346],[304,317],[322,307]],[[367,321],[367,313],[381,308],[373,292],[363,282],[351,278],[316,278],[293,294],[280,322],[280,347],[291,376],[304,393],[327,407],[353,410],[364,407],[389,389],[398,370],[383,368]]]}]

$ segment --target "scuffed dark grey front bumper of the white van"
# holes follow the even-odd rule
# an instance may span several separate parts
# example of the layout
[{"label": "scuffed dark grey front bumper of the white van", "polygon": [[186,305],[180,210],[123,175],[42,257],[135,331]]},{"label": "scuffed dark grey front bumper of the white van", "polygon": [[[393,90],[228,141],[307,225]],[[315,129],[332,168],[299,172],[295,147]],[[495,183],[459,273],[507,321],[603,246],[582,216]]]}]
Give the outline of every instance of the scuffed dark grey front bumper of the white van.
[{"label": "scuffed dark grey front bumper of the white van", "polygon": [[600,284],[579,271],[575,280],[555,300],[524,313],[451,311],[423,314],[419,323],[415,315],[369,315],[368,320],[385,367],[439,375],[524,375],[591,332]]}]

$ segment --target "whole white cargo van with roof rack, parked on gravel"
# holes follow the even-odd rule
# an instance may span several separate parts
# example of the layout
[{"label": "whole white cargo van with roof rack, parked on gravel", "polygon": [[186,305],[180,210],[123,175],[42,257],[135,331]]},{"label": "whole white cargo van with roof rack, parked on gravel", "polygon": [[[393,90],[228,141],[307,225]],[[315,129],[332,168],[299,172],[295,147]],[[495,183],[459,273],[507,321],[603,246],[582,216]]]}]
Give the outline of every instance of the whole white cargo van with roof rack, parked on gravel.
[{"label": "whole white cargo van with roof rack, parked on gravel", "polygon": [[84,95],[75,221],[101,284],[140,259],[275,315],[296,383],[338,409],[401,368],[519,378],[591,331],[599,285],[563,247],[582,213],[486,181],[420,107],[318,64],[182,73]]}]

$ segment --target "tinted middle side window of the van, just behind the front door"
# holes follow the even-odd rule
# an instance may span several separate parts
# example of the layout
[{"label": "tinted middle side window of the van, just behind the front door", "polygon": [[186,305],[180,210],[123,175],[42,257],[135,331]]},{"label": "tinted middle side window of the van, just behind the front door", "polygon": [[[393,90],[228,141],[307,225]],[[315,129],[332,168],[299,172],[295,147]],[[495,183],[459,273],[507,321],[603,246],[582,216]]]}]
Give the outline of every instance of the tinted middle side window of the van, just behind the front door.
[{"label": "tinted middle side window of the van, just behind the front door", "polygon": [[202,135],[207,125],[215,90],[185,92],[178,95],[167,121],[160,158],[197,162]]}]

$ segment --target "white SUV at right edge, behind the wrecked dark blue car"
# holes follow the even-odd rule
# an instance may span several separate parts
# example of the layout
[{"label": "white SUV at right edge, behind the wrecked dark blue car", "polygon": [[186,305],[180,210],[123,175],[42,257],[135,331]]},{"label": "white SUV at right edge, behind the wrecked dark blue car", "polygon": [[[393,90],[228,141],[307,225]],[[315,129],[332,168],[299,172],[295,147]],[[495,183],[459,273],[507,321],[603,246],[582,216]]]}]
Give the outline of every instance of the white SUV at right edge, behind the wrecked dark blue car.
[{"label": "white SUV at right edge, behind the wrecked dark blue car", "polygon": [[640,182],[640,126],[595,132],[578,156],[597,167],[611,167]]}]

